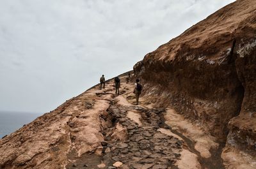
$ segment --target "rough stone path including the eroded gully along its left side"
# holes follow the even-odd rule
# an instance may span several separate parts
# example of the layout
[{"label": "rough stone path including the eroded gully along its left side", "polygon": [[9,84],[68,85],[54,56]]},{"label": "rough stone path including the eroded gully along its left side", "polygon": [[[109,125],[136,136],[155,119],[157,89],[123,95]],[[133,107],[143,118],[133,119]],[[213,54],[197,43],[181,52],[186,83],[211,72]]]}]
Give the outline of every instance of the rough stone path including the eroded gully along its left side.
[{"label": "rough stone path including the eroded gully along its left side", "polygon": [[[97,92],[97,97],[106,93]],[[109,94],[109,92],[108,92]],[[164,135],[157,129],[163,126],[161,114],[165,110],[134,105],[120,105],[115,98],[109,101],[108,115],[102,115],[109,125],[102,128],[104,142],[102,155],[83,154],[72,161],[67,168],[177,168],[173,164],[179,159],[183,142],[174,136]],[[128,112],[141,116],[138,124],[127,117]],[[118,138],[114,135],[116,126],[124,128]]]}]

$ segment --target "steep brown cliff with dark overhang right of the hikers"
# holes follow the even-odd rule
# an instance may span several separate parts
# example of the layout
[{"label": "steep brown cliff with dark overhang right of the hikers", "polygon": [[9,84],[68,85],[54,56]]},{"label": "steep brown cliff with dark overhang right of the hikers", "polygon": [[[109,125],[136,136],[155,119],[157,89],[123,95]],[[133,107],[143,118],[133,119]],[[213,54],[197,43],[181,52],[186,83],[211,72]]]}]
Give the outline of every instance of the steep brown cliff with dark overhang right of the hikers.
[{"label": "steep brown cliff with dark overhang right of the hikers", "polygon": [[145,55],[134,73],[148,99],[255,154],[256,1],[216,11]]}]

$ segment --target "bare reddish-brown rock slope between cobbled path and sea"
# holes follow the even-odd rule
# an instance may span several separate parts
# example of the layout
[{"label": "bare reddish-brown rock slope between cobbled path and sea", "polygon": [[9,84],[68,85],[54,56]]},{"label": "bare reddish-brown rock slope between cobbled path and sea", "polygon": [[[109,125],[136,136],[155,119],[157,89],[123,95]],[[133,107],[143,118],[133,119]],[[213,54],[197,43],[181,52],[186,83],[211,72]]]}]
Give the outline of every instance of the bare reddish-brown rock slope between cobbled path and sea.
[{"label": "bare reddish-brown rock slope between cobbled path and sea", "polygon": [[0,168],[65,168],[72,158],[102,149],[99,116],[112,94],[95,96],[84,92],[1,139]]}]

